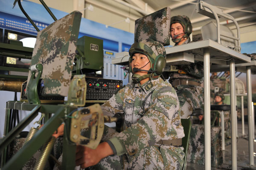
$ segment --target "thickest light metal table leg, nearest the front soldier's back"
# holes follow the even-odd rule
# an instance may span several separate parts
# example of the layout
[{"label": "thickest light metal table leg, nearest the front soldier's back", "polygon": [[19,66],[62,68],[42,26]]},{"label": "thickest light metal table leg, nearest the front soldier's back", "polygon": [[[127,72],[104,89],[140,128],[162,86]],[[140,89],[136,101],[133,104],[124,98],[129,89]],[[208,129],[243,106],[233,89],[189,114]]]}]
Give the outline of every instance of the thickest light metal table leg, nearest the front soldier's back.
[{"label": "thickest light metal table leg, nearest the front soldier's back", "polygon": [[204,169],[211,169],[210,51],[204,49]]}]

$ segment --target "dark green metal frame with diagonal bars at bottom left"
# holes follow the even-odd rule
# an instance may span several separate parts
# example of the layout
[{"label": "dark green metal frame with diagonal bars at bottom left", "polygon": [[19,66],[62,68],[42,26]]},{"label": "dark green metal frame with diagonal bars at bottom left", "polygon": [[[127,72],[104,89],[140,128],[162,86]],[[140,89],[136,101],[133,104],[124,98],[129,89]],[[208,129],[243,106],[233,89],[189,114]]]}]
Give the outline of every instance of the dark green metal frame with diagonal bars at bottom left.
[{"label": "dark green metal frame with diagonal bars at bottom left", "polygon": [[[1,140],[0,152],[3,157],[1,158],[1,166],[3,170],[21,169],[23,164],[33,156],[33,154],[48,140],[54,131],[62,124],[65,123],[64,140],[63,140],[63,162],[62,169],[69,170],[75,167],[75,151],[76,144],[68,140],[70,129],[70,119],[66,115],[77,107],[69,105],[58,104],[28,104],[17,101],[6,102],[6,124],[4,128],[5,138]],[[9,117],[10,109],[32,110],[13,130],[9,132]],[[54,113],[51,118],[46,118],[44,126],[38,130],[37,133],[26,143],[7,163],[6,153],[9,143],[26,127],[37,115],[42,112],[49,118],[49,115]]]}]

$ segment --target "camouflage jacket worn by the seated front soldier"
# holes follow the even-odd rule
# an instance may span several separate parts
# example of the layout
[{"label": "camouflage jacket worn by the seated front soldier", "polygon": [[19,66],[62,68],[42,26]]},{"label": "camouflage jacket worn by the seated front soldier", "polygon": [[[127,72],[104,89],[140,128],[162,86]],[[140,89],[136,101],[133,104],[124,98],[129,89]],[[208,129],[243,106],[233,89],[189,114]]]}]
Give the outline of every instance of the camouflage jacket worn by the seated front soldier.
[{"label": "camouflage jacket worn by the seated front soldier", "polygon": [[[146,101],[145,101],[146,99]],[[145,113],[143,104],[145,101]],[[145,147],[151,147],[161,139],[183,138],[184,132],[180,122],[180,104],[175,89],[162,78],[150,80],[140,86],[128,83],[116,95],[102,105],[104,113],[125,114],[126,130],[110,139],[117,155],[125,154],[128,162],[136,158]],[[118,145],[122,146],[118,149]],[[169,157],[173,155],[183,164],[183,148],[162,145],[160,152],[165,166],[169,166]]]}]

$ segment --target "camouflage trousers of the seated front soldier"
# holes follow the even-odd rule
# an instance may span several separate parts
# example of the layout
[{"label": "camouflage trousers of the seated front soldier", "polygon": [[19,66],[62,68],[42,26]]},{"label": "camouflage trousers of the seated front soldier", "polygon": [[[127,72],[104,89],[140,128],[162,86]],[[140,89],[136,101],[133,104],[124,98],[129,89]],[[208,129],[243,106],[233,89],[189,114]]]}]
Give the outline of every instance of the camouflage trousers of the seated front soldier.
[{"label": "camouflage trousers of the seated front soldier", "polygon": [[[86,136],[86,131],[82,131],[81,135]],[[118,133],[108,127],[104,127],[104,134],[102,141],[106,141],[109,138],[116,136]],[[160,146],[160,145],[159,145]],[[107,156],[103,158],[98,164],[87,168],[88,170],[179,170],[183,165],[180,165],[179,160],[172,155],[162,154],[164,152],[161,147],[157,145],[144,148],[140,154],[134,158],[131,162],[128,162],[126,155],[121,156]],[[164,147],[164,146],[163,146]],[[172,157],[172,158],[169,158]],[[62,156],[59,158],[61,162]],[[165,164],[168,166],[165,166]],[[60,170],[60,166],[55,164],[54,170]],[[82,170],[78,166],[76,170]]]}]

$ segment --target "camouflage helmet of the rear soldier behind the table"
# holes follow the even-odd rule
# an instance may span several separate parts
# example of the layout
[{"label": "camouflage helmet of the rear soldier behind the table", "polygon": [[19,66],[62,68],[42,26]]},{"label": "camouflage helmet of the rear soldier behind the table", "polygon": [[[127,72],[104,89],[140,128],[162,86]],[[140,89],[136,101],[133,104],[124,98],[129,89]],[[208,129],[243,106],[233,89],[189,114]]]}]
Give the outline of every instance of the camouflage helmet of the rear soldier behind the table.
[{"label": "camouflage helmet of the rear soldier behind the table", "polygon": [[171,18],[171,26],[173,23],[180,23],[183,27],[183,32],[185,33],[184,37],[187,38],[192,33],[192,25],[189,20],[189,17],[186,15],[177,15]]}]

